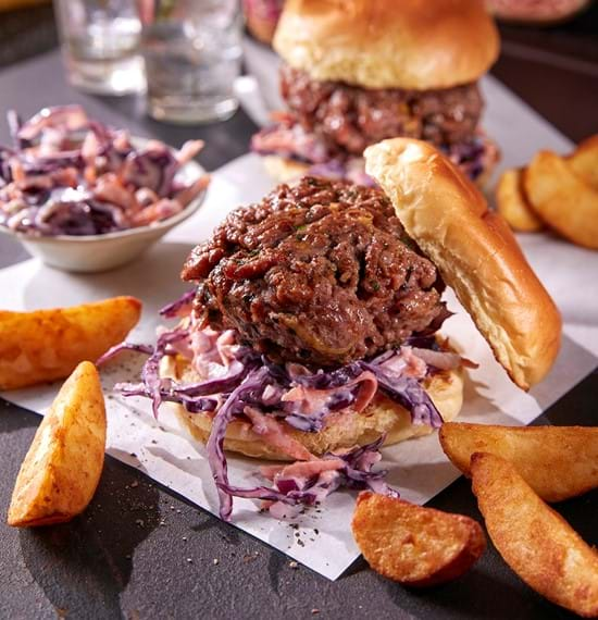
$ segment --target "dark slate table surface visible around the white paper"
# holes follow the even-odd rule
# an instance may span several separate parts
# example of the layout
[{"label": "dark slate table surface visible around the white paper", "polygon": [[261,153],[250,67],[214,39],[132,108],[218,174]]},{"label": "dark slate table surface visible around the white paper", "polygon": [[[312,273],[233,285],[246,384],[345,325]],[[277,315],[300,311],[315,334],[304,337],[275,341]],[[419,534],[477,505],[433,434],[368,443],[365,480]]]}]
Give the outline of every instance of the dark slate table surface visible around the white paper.
[{"label": "dark slate table surface visible around the white paper", "polygon": [[[566,26],[503,27],[494,74],[572,139],[598,132],[598,7]],[[144,115],[135,98],[96,98],[71,90],[57,53],[16,61],[55,46],[49,8],[0,14],[0,114],[80,101],[107,121],[178,145],[201,137],[201,163],[213,170],[247,150],[254,129],[242,113],[227,123],[184,129]],[[0,128],[0,141],[5,140]],[[0,266],[26,258],[0,239]],[[598,300],[597,300],[598,306]],[[536,421],[596,424],[594,373]],[[0,509],[4,513],[39,417],[0,400]],[[481,519],[460,479],[431,506]],[[598,543],[598,492],[562,503],[559,512]],[[107,458],[88,510],[39,530],[0,523],[0,618],[565,618],[527,588],[491,545],[461,580],[425,592],[379,578],[358,560],[333,583],[251,536],[225,525],[141,473]],[[188,558],[192,561],[189,562]],[[217,560],[217,563],[214,562]]]}]

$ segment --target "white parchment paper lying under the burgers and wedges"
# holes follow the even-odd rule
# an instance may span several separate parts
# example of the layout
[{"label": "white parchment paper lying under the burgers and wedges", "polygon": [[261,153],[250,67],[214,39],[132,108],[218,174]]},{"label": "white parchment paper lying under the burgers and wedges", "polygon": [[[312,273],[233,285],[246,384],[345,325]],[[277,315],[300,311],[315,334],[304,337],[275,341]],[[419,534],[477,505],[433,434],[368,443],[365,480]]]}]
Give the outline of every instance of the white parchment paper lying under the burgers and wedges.
[{"label": "white parchment paper lying under the burgers and wedges", "polygon": [[[258,99],[251,88],[251,83],[246,82],[245,90],[256,107]],[[487,79],[484,89],[488,101],[485,125],[500,141],[503,165],[524,163],[543,147],[569,149],[568,140],[496,80]],[[228,211],[261,198],[271,186],[259,158],[239,158],[214,174],[199,212],[142,259],[96,275],[66,274],[35,260],[26,261],[0,271],[0,307],[35,309],[135,295],[144,301],[144,315],[130,339],[151,343],[159,324],[158,309],[185,290],[178,272],[191,246],[205,238]],[[446,323],[445,331],[470,359],[479,363],[466,382],[465,404],[459,418],[463,421],[526,424],[598,365],[598,252],[543,234],[520,240],[563,312],[562,351],[550,376],[525,394],[508,380],[469,317],[449,296],[449,307],[457,315]],[[189,441],[167,408],[154,421],[147,401],[123,400],[112,393],[116,381],[135,377],[140,362],[127,355],[123,362],[102,371],[108,395],[108,452],[217,513],[203,448]],[[2,396],[42,413],[58,388],[55,384]],[[420,504],[458,476],[443,455],[436,435],[385,449],[382,464],[389,469],[389,483],[406,499]],[[235,483],[254,484],[256,470],[256,461],[229,457],[229,473]],[[359,555],[349,528],[353,505],[353,494],[336,493],[320,509],[300,517],[299,530],[295,530],[287,522],[260,514],[253,501],[235,499],[234,525],[319,573],[336,579]]]}]

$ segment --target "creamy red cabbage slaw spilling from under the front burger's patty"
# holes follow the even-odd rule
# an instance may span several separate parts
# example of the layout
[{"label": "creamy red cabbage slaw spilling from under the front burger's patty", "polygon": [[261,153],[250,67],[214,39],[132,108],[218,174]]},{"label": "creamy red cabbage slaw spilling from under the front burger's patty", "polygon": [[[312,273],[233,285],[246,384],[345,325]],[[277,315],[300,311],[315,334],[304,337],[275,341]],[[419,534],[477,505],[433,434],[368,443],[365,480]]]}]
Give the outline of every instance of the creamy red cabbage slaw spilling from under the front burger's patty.
[{"label": "creamy red cabbage slaw spilling from under the front burger's patty", "polygon": [[[374,359],[333,371],[312,372],[300,364],[278,364],[237,344],[233,331],[219,333],[195,325],[194,294],[189,292],[162,309],[164,318],[183,317],[183,321],[175,328],[162,330],[154,347],[123,343],[98,363],[124,349],[146,354],[149,357],[141,381],[117,384],[116,389],[124,396],[150,398],[154,416],[161,402],[171,401],[183,405],[191,414],[208,412],[212,417],[207,451],[222,519],[231,519],[235,496],[261,499],[274,516],[292,517],[340,486],[395,494],[384,482],[386,472],[372,470],[382,458],[384,437],[367,446],[316,458],[286,429],[317,432],[328,420],[359,414],[378,390],[410,411],[414,424],[438,427],[443,418],[422,386],[434,368],[422,357],[428,351],[436,368],[450,369],[461,363],[459,356],[440,350],[434,336],[416,336],[412,343],[416,346],[408,342]],[[422,351],[422,357],[414,351]],[[186,358],[199,381],[184,383],[160,376],[160,364],[169,356]],[[278,469],[262,468],[272,487],[240,488],[231,484],[224,439],[228,424],[235,420],[248,423],[262,441],[297,459]]]}]

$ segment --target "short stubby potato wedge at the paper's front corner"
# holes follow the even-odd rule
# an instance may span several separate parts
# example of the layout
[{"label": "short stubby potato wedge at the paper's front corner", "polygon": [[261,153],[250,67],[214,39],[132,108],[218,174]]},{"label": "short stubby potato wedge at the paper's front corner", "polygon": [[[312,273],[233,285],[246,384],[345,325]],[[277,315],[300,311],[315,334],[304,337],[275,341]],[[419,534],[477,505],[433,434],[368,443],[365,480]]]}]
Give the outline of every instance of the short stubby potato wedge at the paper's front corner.
[{"label": "short stubby potato wedge at the paper's front corner", "polygon": [[486,548],[479,523],[469,517],[370,492],[360,493],[351,526],[376,572],[413,587],[457,579]]}]

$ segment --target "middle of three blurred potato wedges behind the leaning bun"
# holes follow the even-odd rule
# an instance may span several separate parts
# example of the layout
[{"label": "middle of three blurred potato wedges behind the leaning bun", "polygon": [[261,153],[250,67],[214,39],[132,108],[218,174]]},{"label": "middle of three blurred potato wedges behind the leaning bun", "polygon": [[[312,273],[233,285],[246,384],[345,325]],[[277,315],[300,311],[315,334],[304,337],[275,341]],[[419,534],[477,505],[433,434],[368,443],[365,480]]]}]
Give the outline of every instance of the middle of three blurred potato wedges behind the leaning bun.
[{"label": "middle of three blurred potato wedges behind the leaning bun", "polygon": [[598,249],[598,189],[582,181],[564,159],[539,151],[523,184],[541,220],[574,244]]}]

